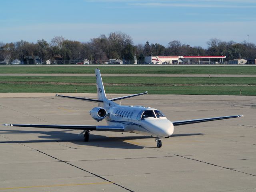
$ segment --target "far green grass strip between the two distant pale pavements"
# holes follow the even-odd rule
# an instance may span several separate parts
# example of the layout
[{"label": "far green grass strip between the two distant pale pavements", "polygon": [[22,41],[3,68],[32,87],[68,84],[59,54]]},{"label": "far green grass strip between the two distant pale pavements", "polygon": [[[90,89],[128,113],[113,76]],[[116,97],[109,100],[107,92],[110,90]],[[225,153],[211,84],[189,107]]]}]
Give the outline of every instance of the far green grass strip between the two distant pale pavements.
[{"label": "far green grass strip between the two distant pale pavements", "polygon": [[0,73],[256,74],[256,66],[1,66]]}]

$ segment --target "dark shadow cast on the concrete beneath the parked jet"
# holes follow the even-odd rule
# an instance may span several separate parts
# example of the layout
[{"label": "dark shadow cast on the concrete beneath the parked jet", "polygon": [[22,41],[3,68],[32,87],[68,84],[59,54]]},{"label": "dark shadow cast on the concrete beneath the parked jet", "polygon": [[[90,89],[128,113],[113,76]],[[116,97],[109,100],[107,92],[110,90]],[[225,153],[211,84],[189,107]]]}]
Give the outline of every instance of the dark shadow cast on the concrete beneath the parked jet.
[{"label": "dark shadow cast on the concrete beneath the parked jet", "polygon": [[[27,130],[0,130],[0,134],[43,134],[38,136],[40,140],[17,140],[17,141],[2,141],[1,143],[47,143],[47,142],[72,142],[77,145],[97,146],[104,148],[122,148],[122,149],[142,149],[143,146],[125,142],[126,140],[138,139],[154,139],[150,136],[119,136],[107,137],[102,135],[90,134],[90,141],[84,142],[83,136],[78,136],[76,133],[70,133],[71,130],[61,131],[27,131]],[[193,134],[174,134],[171,137],[177,136],[193,136],[203,135],[202,133]],[[153,141],[154,142],[154,141]]]}]

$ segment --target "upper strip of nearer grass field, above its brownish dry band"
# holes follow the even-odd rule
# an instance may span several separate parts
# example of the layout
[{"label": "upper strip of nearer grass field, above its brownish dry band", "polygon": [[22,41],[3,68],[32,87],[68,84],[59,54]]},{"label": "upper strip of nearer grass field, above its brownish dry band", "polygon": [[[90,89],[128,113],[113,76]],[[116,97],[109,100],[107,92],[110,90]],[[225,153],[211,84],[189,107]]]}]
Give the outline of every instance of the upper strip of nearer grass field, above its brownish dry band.
[{"label": "upper strip of nearer grass field, above its brownish dry band", "polygon": [[[255,77],[102,77],[104,84],[136,85],[256,85]],[[82,76],[0,76],[0,83],[70,83],[96,84],[95,77]]]}]

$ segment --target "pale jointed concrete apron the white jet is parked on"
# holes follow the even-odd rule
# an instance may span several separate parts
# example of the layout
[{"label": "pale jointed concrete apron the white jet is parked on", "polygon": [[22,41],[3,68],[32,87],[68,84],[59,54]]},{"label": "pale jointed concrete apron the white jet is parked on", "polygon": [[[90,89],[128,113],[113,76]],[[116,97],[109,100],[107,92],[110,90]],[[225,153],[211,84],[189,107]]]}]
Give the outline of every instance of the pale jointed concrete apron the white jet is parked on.
[{"label": "pale jointed concrete apron the white jet is parked on", "polygon": [[[88,114],[95,103],[54,95],[0,94],[0,124],[106,124]],[[1,125],[0,192],[256,191],[255,96],[144,95],[121,102],[158,108],[173,121],[244,117],[176,126],[162,148],[138,134],[93,131],[84,142],[77,130]]]}]

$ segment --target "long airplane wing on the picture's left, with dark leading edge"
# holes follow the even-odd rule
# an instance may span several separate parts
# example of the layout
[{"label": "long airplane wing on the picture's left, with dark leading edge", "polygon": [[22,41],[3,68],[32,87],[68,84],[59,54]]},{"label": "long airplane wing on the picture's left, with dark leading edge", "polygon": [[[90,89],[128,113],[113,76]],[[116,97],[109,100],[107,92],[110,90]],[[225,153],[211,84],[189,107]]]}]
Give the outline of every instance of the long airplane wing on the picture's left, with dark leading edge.
[{"label": "long airplane wing on the picture's left, with dark leading edge", "polygon": [[52,129],[74,129],[74,130],[90,130],[90,131],[114,131],[124,132],[123,126],[92,126],[92,125],[32,125],[32,124],[4,124],[4,126],[13,127],[38,127]]}]

